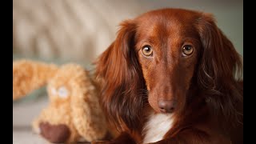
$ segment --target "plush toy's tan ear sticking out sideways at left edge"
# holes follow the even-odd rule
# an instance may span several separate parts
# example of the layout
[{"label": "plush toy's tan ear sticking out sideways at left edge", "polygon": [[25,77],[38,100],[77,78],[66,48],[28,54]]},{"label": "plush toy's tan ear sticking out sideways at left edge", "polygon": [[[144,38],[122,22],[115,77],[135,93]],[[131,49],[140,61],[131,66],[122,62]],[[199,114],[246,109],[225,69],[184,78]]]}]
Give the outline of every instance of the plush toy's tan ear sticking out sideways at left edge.
[{"label": "plush toy's tan ear sticking out sideways at left edge", "polygon": [[13,100],[46,84],[58,67],[43,62],[17,60],[13,62]]}]

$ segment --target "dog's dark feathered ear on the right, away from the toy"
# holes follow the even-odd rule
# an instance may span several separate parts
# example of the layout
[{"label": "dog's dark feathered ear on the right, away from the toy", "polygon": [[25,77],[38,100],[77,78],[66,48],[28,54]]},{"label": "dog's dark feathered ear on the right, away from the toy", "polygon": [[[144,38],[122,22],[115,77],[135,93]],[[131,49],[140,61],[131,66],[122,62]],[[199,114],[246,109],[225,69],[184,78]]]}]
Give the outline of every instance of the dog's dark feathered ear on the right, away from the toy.
[{"label": "dog's dark feathered ear on the right, away from the toy", "polygon": [[196,26],[202,42],[198,84],[210,95],[206,101],[215,112],[236,117],[238,102],[242,102],[242,87],[236,79],[242,74],[241,58],[210,14],[202,14]]}]

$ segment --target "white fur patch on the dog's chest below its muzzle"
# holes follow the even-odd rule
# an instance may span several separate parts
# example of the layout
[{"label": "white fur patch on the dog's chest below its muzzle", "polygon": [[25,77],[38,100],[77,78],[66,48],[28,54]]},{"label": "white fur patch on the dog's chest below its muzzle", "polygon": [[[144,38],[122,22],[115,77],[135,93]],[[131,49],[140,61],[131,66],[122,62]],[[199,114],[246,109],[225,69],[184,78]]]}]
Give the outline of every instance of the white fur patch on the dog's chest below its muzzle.
[{"label": "white fur patch on the dog's chest below its muzzle", "polygon": [[151,114],[143,128],[143,143],[158,142],[172,127],[171,114]]}]

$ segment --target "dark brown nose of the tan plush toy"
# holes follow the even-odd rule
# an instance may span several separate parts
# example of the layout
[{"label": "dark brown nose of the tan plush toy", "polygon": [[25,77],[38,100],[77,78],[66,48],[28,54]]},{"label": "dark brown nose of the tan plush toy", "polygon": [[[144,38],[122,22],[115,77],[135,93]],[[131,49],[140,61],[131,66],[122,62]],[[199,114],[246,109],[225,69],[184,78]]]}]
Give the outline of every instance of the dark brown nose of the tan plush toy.
[{"label": "dark brown nose of the tan plush toy", "polygon": [[51,125],[48,122],[40,122],[41,135],[48,141],[53,143],[63,143],[70,137],[70,129],[68,126],[59,124]]}]

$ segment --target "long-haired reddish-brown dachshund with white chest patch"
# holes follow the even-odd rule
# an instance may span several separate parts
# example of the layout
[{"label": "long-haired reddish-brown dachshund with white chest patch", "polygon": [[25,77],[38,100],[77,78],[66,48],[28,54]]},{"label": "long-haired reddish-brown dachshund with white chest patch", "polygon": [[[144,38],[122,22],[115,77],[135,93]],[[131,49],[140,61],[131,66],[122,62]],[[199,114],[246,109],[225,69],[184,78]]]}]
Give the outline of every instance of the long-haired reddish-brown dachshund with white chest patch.
[{"label": "long-haired reddish-brown dachshund with white chest patch", "polygon": [[121,132],[106,143],[243,143],[239,75],[211,14],[163,9],[122,22],[96,63],[102,108]]}]

